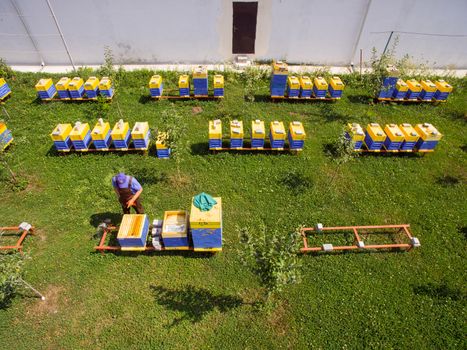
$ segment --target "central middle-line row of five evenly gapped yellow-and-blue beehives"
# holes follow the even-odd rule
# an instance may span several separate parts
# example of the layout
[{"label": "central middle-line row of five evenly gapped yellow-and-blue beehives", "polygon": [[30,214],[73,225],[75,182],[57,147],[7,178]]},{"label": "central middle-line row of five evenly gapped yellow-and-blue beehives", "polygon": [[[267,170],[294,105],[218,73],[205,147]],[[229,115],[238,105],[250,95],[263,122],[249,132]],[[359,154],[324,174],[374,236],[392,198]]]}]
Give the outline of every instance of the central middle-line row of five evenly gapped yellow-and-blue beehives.
[{"label": "central middle-line row of five evenly gapped yellow-and-blue beehives", "polygon": [[[239,120],[231,121],[230,148],[243,148],[244,136],[243,122]],[[266,127],[264,121],[257,119],[251,122],[250,136],[251,148],[264,148],[266,139]],[[306,133],[301,122],[291,122],[289,124],[289,130],[286,133],[283,122],[273,121],[269,124],[268,137],[270,148],[272,149],[283,149],[287,138],[290,149],[301,151],[305,143]],[[219,119],[209,121],[209,149],[222,149],[222,122]]]}]

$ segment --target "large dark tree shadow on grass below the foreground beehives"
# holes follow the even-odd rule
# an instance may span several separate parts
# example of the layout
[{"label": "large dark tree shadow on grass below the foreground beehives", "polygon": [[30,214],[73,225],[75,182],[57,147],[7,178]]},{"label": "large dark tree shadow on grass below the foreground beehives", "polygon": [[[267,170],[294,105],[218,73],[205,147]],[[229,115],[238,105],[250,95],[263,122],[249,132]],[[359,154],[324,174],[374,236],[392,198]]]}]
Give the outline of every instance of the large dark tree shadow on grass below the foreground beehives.
[{"label": "large dark tree shadow on grass below the foreground beehives", "polygon": [[169,289],[150,285],[149,288],[156,304],[182,313],[182,316],[174,319],[169,327],[174,327],[183,321],[198,323],[214,310],[225,313],[244,304],[240,297],[214,294],[207,289],[194,286]]}]

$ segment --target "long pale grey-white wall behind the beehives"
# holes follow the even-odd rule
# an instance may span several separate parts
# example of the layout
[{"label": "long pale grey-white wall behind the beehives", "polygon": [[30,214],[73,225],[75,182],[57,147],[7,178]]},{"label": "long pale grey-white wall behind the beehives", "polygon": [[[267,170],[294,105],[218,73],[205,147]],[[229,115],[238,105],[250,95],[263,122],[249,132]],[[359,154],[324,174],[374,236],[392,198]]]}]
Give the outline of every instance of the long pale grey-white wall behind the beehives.
[{"label": "long pale grey-white wall behind the beehives", "polygon": [[[127,64],[233,57],[231,0],[49,1],[76,65],[102,63],[105,46]],[[398,31],[421,33],[395,34],[400,55],[433,67],[467,67],[467,0],[258,3],[255,59],[357,65],[360,48],[368,59],[373,47],[383,50],[390,31]],[[70,63],[46,0],[0,0],[0,57],[12,65]]]}]

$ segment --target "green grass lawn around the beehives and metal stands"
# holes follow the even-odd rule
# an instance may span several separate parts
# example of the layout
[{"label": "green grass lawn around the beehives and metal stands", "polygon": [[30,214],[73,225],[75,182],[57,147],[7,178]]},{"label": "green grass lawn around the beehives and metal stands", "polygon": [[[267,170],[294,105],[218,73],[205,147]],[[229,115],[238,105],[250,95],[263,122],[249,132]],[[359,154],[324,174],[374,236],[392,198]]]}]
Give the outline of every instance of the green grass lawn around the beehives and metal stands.
[{"label": "green grass lawn around the beehives and metal stands", "polygon": [[[16,74],[6,103],[15,142],[7,159],[21,180],[2,169],[0,225],[28,221],[38,236],[25,242],[25,278],[46,296],[17,296],[0,310],[1,348],[435,348],[466,342],[467,81],[455,82],[447,103],[372,105],[348,86],[341,101],[272,103],[244,99],[242,81],[226,82],[216,101],[150,101],[150,72],[126,73],[109,108],[97,103],[35,101],[40,75]],[[54,76],[57,80],[59,76]],[[171,77],[172,81],[174,77]],[[258,81],[257,95],[268,82]],[[195,114],[194,107],[202,112]],[[175,108],[187,132],[180,162],[150,154],[58,156],[49,133],[58,123],[98,117],[164,129],[161,113]],[[119,111],[120,110],[120,111]],[[208,121],[237,118],[299,120],[307,140],[293,154],[210,154]],[[425,156],[367,155],[338,165],[326,149],[345,123],[434,124],[444,135]],[[111,177],[140,180],[146,212],[189,209],[201,191],[223,200],[224,250],[106,254],[93,251],[97,224],[117,218]],[[23,189],[24,187],[24,189]],[[411,224],[422,246],[408,253],[303,256],[303,281],[267,313],[263,291],[240,262],[237,227],[283,232],[299,225]]]}]

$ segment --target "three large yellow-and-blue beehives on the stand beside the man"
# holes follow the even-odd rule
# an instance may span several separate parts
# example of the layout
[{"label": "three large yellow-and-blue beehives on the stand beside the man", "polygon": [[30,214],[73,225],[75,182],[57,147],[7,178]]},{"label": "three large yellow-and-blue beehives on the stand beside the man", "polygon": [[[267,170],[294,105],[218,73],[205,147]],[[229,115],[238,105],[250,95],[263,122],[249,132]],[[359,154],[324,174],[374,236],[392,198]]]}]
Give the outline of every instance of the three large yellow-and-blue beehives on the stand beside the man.
[{"label": "three large yellow-and-blue beehives on the stand beside the man", "polygon": [[[154,220],[152,245],[156,250],[188,250],[198,252],[222,250],[222,202],[220,197],[210,210],[201,211],[192,202],[191,212],[166,211],[164,220]],[[188,219],[189,218],[189,219]],[[145,214],[123,216],[117,240],[122,250],[144,250],[149,235],[149,218]]]}]

